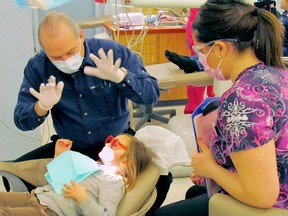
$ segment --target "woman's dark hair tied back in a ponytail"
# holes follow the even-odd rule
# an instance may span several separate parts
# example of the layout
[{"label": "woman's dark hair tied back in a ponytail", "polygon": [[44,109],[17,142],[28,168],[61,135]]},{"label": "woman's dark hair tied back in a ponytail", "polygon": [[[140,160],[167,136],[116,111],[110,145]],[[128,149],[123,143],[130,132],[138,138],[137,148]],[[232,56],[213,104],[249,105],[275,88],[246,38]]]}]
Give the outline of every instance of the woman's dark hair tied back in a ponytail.
[{"label": "woman's dark hair tied back in a ponytail", "polygon": [[192,25],[199,42],[237,39],[239,52],[253,47],[266,65],[284,68],[281,22],[270,12],[242,0],[208,0]]}]

